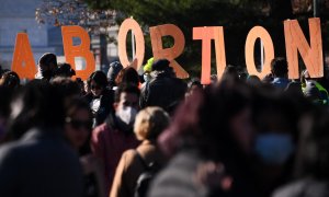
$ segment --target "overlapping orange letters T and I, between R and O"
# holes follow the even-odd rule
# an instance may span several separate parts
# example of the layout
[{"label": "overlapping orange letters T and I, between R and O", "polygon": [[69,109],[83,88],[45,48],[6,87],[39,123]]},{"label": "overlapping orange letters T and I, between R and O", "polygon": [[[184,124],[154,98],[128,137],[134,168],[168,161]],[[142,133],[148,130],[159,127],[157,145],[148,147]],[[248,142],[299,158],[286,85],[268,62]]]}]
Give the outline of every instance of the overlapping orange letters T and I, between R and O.
[{"label": "overlapping orange letters T and I, between R and O", "polygon": [[202,39],[201,83],[211,83],[212,39],[215,39],[217,78],[220,79],[226,67],[223,26],[193,27],[193,39]]}]

